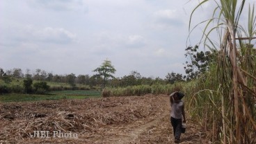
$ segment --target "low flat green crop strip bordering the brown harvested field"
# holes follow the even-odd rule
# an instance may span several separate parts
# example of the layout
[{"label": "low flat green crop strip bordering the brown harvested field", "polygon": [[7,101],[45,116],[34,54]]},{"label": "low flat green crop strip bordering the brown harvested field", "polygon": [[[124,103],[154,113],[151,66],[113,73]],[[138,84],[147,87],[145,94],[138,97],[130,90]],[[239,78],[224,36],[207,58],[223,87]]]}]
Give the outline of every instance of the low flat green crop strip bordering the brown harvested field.
[{"label": "low flat green crop strip bordering the brown harvested field", "polygon": [[47,95],[36,94],[19,94],[10,93],[0,95],[1,102],[22,102],[22,101],[35,101],[35,100],[61,100],[61,99],[84,99],[84,98],[99,98],[100,91],[90,90],[66,90],[66,91],[51,91]]}]

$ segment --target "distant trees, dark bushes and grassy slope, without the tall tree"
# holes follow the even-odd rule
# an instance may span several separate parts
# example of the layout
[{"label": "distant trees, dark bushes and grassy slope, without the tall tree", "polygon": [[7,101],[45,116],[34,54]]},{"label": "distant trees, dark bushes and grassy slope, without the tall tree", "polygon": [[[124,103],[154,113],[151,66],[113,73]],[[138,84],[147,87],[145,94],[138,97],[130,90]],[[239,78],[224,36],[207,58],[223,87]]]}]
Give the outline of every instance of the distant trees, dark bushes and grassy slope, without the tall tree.
[{"label": "distant trees, dark bushes and grassy slope, without the tall tree", "polygon": [[[104,69],[99,67],[95,70]],[[182,74],[168,73],[166,79],[145,78],[137,71],[131,71],[129,75],[122,78],[115,78],[110,74],[104,75],[106,71],[97,71],[95,75],[58,75],[47,73],[44,70],[36,69],[22,72],[22,69],[15,68],[4,71],[0,68],[0,94],[2,93],[38,93],[45,94],[49,91],[62,90],[101,90],[104,87],[133,87],[138,85],[152,84],[174,84],[184,81]],[[103,74],[102,74],[103,73]],[[108,79],[111,78],[111,79]]]}]

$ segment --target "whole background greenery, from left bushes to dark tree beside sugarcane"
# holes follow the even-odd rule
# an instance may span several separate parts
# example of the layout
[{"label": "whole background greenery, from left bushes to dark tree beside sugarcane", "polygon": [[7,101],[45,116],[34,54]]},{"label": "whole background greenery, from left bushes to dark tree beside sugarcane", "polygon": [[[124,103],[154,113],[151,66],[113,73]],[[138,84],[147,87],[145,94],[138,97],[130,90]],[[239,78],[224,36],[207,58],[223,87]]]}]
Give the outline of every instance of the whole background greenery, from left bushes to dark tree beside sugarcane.
[{"label": "whole background greenery, from left bushes to dark tree beside sugarcane", "polygon": [[[12,89],[16,89],[17,91],[17,84],[15,84],[15,88],[9,87],[10,83],[15,80],[23,80],[22,88],[20,89],[23,89],[25,93],[31,91],[39,91],[38,93],[42,93],[43,91],[62,89],[103,89],[104,87],[174,84],[175,82],[189,81],[198,78],[209,69],[209,62],[214,62],[214,56],[216,56],[216,52],[198,51],[198,46],[189,46],[186,48],[185,54],[185,57],[189,58],[186,64],[184,64],[186,75],[171,72],[167,73],[164,79],[159,77],[143,77],[138,71],[131,71],[129,75],[115,78],[113,74],[116,70],[110,60],[104,60],[102,65],[93,70],[93,72],[96,73],[95,75],[75,75],[74,73],[58,75],[42,69],[35,69],[33,73],[30,69],[26,69],[26,72],[23,73],[22,69],[19,68],[8,70],[0,68],[0,93],[3,93],[5,89],[9,89],[10,92],[13,92]],[[54,82],[57,86],[49,87],[47,82]],[[58,87],[58,84],[61,85],[63,83],[68,84],[69,87]]]}]

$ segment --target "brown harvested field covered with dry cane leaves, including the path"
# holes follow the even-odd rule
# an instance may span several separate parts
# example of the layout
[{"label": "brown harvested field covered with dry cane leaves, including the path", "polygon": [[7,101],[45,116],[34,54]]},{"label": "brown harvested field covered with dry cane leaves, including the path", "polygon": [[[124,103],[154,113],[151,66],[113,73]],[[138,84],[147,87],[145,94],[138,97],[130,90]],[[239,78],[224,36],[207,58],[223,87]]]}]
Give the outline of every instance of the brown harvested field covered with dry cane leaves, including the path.
[{"label": "brown harvested field covered with dry cane leaves, including the path", "polygon": [[[0,108],[0,143],[174,143],[164,95],[10,102]],[[180,143],[208,143],[188,114],[186,127]]]}]

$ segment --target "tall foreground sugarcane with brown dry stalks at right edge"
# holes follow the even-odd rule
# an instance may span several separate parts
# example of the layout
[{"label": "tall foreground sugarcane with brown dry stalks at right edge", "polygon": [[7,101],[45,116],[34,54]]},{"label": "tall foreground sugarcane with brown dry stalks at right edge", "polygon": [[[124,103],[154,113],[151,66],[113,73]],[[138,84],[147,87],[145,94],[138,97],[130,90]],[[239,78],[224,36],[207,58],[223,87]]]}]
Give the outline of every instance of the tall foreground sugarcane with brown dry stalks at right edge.
[{"label": "tall foreground sugarcane with brown dry stalks at right edge", "polygon": [[[201,1],[191,12],[189,29],[195,10],[207,2],[215,3],[216,8],[213,17],[200,23],[205,23],[200,42],[218,51],[217,74],[214,75],[216,85],[212,85],[209,91],[215,91],[214,95],[219,97],[216,100],[221,102],[221,109],[216,109],[219,112],[214,112],[220,117],[214,116],[214,120],[219,120],[214,123],[220,123],[221,130],[214,133],[213,141],[221,139],[221,143],[256,143],[256,49],[253,44],[256,39],[255,7],[248,6],[246,28],[240,23],[246,0]],[[217,44],[210,38],[214,32],[219,37]],[[208,100],[215,106],[219,102],[212,98]],[[212,110],[215,111],[214,108]]]}]

